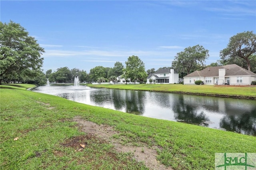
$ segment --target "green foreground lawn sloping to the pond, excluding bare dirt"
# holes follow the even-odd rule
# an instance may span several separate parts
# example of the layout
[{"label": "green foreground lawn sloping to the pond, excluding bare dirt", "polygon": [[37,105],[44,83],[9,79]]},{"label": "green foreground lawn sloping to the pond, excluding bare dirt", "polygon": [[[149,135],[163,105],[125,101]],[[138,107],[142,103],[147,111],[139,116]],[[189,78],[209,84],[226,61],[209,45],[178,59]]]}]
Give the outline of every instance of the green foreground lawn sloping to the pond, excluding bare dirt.
[{"label": "green foreground lawn sloping to the pond, excluding bare dirt", "polygon": [[[254,136],[132,115],[26,90],[32,86],[0,86],[3,169],[147,169],[132,153],[117,152],[111,143],[86,137],[73,121],[77,116],[113,127],[119,132],[113,137],[124,144],[158,146],[157,160],[173,169],[214,169],[216,152],[256,152]],[[79,152],[66,145],[77,138],[86,143]]]}]

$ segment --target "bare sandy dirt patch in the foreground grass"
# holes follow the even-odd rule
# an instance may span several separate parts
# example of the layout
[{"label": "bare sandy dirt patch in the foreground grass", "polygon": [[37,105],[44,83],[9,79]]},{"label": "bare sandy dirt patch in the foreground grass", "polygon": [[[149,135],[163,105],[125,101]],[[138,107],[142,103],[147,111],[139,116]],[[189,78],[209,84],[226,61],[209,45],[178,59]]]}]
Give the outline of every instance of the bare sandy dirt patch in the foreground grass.
[{"label": "bare sandy dirt patch in the foreground grass", "polygon": [[[77,137],[73,139],[71,143],[64,144],[64,146],[75,146],[79,148],[81,142],[86,145],[86,138],[96,138],[101,142],[109,142],[114,145],[114,148],[118,152],[130,152],[137,161],[142,161],[151,170],[165,170],[166,166],[156,160],[157,146],[148,147],[143,143],[142,146],[133,146],[132,144],[122,144],[120,138],[113,138],[112,136],[118,134],[112,127],[107,125],[98,125],[96,123],[81,119],[81,117],[75,117],[74,120],[78,123],[80,130],[86,132],[87,135],[83,137]],[[159,149],[159,148],[158,148]],[[172,169],[168,167],[168,169]]]}]

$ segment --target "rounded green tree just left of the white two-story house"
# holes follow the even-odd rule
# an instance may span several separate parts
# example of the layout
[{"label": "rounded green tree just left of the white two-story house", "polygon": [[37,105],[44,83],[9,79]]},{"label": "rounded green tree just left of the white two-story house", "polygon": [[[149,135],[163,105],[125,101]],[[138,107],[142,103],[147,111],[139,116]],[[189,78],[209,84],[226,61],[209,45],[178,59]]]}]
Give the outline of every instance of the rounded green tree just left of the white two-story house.
[{"label": "rounded green tree just left of the white two-story house", "polygon": [[124,78],[143,81],[147,77],[145,71],[145,65],[143,61],[138,56],[130,56],[128,60],[125,61],[126,68],[124,69]]}]

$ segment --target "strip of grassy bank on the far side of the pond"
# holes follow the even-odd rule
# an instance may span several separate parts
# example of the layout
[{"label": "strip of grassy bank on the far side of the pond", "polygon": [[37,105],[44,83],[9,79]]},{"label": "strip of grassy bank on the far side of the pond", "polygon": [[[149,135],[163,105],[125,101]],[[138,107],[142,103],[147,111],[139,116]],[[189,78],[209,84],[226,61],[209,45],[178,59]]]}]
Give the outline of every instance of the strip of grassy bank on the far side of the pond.
[{"label": "strip of grassy bank on the far side of the pond", "polygon": [[213,95],[222,97],[238,97],[245,99],[256,99],[256,86],[214,86],[214,85],[182,85],[182,84],[140,84],[140,85],[112,85],[87,84],[89,87],[142,90],[142,91],[160,91],[168,93],[186,93],[197,95]]}]

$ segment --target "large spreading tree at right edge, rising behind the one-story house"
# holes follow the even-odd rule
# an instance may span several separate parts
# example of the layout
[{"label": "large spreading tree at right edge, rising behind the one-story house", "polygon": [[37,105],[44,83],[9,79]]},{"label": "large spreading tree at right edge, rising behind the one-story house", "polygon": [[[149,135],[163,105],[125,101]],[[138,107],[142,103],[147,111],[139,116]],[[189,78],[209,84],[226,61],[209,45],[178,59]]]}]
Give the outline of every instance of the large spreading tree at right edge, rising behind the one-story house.
[{"label": "large spreading tree at right edge, rising behind the one-story house", "polygon": [[[252,54],[256,53],[256,34],[252,31],[241,32],[232,36],[226,48],[220,51],[220,57],[224,63],[246,62],[246,69],[251,71],[250,60]],[[242,65],[240,65],[243,67]]]}]

